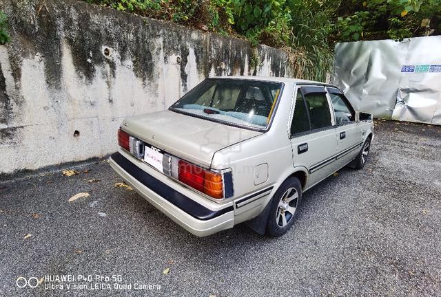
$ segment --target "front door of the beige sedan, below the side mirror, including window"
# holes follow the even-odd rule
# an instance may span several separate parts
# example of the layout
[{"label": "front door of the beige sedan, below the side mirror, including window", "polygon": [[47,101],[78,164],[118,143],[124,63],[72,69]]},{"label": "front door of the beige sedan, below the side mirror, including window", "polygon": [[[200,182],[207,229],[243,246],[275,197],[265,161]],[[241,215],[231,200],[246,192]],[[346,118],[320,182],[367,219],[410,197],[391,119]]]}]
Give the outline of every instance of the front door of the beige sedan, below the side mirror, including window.
[{"label": "front door of the beige sedan, below the side mirror, including window", "polygon": [[327,87],[328,96],[336,118],[338,137],[336,169],[345,166],[356,157],[362,145],[360,123],[356,122],[356,113],[342,92],[334,87]]}]

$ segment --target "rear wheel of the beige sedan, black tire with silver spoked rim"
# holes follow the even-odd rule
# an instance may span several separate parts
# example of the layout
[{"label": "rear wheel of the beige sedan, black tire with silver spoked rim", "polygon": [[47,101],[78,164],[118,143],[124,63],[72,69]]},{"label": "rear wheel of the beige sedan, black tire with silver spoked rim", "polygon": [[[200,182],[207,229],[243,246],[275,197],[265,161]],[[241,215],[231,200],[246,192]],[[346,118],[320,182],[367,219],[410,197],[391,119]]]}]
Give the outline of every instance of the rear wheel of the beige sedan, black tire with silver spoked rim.
[{"label": "rear wheel of the beige sedan, black tire with silver spoked rim", "polygon": [[271,199],[271,206],[267,221],[267,234],[269,236],[283,235],[298,214],[302,200],[302,185],[296,177],[285,180]]}]

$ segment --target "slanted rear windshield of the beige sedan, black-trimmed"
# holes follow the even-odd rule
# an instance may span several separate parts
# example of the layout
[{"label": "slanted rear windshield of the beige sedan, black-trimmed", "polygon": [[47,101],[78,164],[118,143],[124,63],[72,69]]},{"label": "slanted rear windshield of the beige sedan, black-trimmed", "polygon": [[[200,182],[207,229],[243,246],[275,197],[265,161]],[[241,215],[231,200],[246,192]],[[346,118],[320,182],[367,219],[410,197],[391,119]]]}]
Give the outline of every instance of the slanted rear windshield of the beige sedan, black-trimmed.
[{"label": "slanted rear windshield of the beige sedan, black-trimmed", "polygon": [[170,107],[173,111],[252,129],[266,129],[282,83],[208,78]]}]

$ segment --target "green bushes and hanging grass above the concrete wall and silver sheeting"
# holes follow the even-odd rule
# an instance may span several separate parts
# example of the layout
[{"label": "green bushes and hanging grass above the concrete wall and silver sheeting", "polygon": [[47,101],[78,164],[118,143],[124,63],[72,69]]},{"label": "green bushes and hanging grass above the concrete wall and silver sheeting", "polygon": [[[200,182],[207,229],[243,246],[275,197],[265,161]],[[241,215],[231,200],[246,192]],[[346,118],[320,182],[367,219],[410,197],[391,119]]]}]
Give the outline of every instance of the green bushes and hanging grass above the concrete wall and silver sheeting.
[{"label": "green bushes and hanging grass above the concrete wall and silver sheeting", "polygon": [[85,0],[285,50],[296,76],[325,80],[334,43],[441,34],[441,0]]}]

